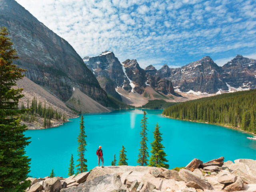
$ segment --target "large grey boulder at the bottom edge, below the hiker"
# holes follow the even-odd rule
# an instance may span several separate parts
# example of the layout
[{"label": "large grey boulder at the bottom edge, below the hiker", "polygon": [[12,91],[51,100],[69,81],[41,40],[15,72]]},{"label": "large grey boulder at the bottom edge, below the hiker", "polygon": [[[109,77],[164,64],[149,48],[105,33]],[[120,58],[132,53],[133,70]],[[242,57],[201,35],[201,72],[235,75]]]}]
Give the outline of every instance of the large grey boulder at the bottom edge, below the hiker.
[{"label": "large grey boulder at the bottom edge, below the hiker", "polygon": [[82,192],[111,192],[119,189],[126,190],[127,188],[122,184],[118,174],[105,174],[98,176],[93,180],[86,180],[86,182],[81,183],[76,187],[77,191]]}]

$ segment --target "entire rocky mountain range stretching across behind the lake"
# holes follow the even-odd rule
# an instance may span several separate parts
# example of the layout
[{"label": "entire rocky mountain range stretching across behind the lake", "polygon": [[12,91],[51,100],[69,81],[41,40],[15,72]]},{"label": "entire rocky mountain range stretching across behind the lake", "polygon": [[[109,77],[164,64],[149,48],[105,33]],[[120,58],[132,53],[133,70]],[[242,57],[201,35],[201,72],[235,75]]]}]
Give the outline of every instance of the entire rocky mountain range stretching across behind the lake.
[{"label": "entire rocky mountain range stretching across behind the lake", "polygon": [[142,106],[154,99],[181,102],[256,88],[256,60],[240,55],[224,66],[205,56],[180,68],[164,65],[159,70],[152,65],[142,69],[136,59],[120,62],[111,51],[82,59],[15,0],[0,0],[0,26],[10,32],[20,57],[14,64],[27,70],[26,82],[31,80],[76,111],[108,111],[112,97]]}]

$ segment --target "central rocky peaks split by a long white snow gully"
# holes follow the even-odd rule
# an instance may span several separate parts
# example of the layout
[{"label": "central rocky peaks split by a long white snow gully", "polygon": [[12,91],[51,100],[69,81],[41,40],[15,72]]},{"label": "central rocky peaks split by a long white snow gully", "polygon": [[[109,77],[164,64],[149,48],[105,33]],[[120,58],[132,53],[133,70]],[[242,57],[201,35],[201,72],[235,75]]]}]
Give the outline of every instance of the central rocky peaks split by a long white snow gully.
[{"label": "central rocky peaks split by a long white snow gully", "polygon": [[[84,57],[84,63],[96,76],[100,86],[112,96],[120,99],[116,88],[123,88],[128,92],[142,94],[146,86],[151,86],[164,94],[174,94],[172,82],[156,75],[156,69],[142,69],[137,60],[127,59],[122,64],[113,52],[105,51],[96,57]],[[151,75],[148,75],[148,72]]]}]

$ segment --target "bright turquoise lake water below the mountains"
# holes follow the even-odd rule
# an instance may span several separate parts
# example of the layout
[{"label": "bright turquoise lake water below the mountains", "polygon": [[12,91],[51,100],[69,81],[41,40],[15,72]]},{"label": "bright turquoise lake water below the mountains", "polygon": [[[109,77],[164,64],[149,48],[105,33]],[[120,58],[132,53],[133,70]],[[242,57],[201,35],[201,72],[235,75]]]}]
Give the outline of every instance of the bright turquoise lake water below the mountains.
[{"label": "bright turquoise lake water below the mountains", "polygon": [[[162,110],[148,113],[148,148],[153,140],[154,125],[161,126],[163,144],[170,168],[186,166],[193,158],[206,162],[220,156],[226,160],[256,159],[256,141],[248,134],[222,126],[174,120],[161,116]],[[98,166],[96,150],[102,146],[104,165],[110,165],[114,154],[117,161],[122,145],[126,148],[128,165],[136,166],[140,146],[140,120],[143,110],[117,110],[110,113],[84,115],[87,135],[85,157],[89,170]],[[67,177],[71,154],[77,160],[77,136],[80,118],[64,125],[42,130],[27,130],[31,143],[26,154],[32,158],[32,177],[49,176],[52,168],[56,176]]]}]

